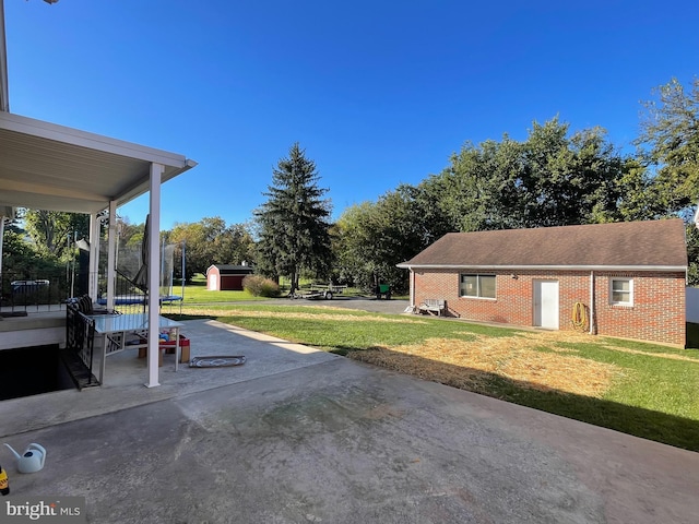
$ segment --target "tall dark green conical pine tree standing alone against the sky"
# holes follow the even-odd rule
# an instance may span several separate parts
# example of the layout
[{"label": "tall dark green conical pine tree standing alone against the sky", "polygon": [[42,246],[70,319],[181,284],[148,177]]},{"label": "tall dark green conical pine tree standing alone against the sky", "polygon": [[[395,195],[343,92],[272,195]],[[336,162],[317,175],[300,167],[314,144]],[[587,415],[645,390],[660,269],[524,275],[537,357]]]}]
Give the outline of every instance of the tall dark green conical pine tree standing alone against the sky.
[{"label": "tall dark green conical pine tree standing alone against the sky", "polygon": [[298,288],[301,272],[324,276],[330,270],[330,202],[319,188],[316,163],[298,142],[272,171],[269,200],[254,212],[259,226],[258,269],[271,277],[288,276]]}]

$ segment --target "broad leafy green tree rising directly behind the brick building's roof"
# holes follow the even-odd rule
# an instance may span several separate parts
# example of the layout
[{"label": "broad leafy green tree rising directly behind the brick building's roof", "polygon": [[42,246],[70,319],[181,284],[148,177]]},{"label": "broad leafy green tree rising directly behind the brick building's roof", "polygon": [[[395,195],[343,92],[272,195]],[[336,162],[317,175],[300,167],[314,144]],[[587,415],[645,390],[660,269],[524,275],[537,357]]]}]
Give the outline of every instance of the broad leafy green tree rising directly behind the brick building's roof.
[{"label": "broad leafy green tree rising directly behind the brick building's roof", "polygon": [[616,217],[625,165],[603,129],[570,134],[569,126],[554,118],[534,122],[522,142],[505,134],[500,142],[465,143],[441,174],[418,186],[417,194],[433,210],[425,224],[436,228],[433,236],[447,228],[585,224]]}]

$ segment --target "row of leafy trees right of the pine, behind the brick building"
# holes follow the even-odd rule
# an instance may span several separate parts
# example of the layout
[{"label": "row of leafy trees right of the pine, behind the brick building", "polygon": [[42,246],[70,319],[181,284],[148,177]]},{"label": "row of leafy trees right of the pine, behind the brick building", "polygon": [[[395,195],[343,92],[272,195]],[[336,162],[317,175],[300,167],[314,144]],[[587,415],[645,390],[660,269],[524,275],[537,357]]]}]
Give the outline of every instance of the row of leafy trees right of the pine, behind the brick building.
[{"label": "row of leafy trees right of the pine, behind the brick building", "polygon": [[570,131],[553,118],[523,141],[466,142],[448,166],[377,202],[354,205],[334,225],[336,271],[362,282],[381,275],[405,288],[395,267],[450,231],[566,226],[680,216],[687,225],[689,285],[699,285],[699,80],[673,79],[643,104],[633,154],[602,128]]}]

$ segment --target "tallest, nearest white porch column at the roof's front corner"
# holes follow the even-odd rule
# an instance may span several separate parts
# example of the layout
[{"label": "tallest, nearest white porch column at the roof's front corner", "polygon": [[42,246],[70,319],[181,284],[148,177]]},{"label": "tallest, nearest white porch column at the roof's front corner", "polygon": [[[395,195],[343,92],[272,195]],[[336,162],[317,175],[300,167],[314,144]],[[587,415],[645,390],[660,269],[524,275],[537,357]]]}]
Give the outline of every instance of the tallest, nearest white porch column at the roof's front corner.
[{"label": "tallest, nearest white porch column at the roof's front corner", "polygon": [[146,388],[158,382],[158,317],[161,313],[161,176],[165,167],[151,164],[151,230],[149,231],[149,381]]}]

